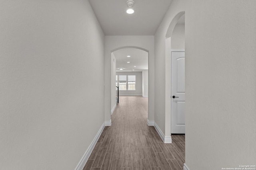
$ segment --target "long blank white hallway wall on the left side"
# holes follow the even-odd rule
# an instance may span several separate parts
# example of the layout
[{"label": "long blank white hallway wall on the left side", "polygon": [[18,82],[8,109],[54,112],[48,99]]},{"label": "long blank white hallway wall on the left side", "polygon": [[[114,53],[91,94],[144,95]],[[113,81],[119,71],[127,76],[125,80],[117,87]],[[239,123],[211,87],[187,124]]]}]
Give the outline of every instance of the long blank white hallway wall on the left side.
[{"label": "long blank white hallway wall on the left side", "polygon": [[1,1],[0,23],[0,169],[74,170],[104,123],[89,2]]}]

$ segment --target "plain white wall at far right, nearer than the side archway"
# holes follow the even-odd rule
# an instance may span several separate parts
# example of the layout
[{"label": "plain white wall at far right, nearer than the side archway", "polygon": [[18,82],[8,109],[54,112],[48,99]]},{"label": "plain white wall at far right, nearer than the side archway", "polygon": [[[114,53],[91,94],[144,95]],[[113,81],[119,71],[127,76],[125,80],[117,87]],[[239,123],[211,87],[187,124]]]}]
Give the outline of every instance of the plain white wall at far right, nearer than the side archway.
[{"label": "plain white wall at far right, nearer than the side archway", "polygon": [[256,163],[256,1],[186,1],[186,165]]}]

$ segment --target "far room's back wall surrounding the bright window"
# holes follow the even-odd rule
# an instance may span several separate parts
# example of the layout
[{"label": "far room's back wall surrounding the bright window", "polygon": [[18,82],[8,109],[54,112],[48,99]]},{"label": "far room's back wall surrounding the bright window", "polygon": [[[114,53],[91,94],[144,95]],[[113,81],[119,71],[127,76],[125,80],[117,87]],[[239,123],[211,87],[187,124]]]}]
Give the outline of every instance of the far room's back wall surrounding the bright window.
[{"label": "far room's back wall surrounding the bright window", "polygon": [[142,72],[116,72],[116,75],[135,75],[136,90],[119,90],[119,96],[142,96]]}]

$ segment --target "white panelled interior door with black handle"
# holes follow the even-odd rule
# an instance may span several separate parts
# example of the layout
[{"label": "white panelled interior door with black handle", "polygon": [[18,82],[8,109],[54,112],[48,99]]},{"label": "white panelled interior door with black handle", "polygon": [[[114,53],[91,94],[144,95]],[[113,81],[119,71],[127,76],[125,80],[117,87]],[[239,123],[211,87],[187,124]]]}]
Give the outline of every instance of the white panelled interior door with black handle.
[{"label": "white panelled interior door with black handle", "polygon": [[185,134],[185,52],[172,52],[171,133]]}]

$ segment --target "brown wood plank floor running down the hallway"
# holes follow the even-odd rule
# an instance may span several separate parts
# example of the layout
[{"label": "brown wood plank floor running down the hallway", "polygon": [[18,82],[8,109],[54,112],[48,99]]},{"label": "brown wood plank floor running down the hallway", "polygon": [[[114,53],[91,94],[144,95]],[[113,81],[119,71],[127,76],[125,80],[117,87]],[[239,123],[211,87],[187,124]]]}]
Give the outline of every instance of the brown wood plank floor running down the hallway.
[{"label": "brown wood plank floor running down the hallway", "polygon": [[185,135],[165,144],[147,117],[148,98],[120,96],[83,170],[183,170]]}]

